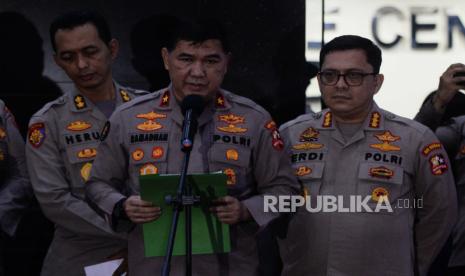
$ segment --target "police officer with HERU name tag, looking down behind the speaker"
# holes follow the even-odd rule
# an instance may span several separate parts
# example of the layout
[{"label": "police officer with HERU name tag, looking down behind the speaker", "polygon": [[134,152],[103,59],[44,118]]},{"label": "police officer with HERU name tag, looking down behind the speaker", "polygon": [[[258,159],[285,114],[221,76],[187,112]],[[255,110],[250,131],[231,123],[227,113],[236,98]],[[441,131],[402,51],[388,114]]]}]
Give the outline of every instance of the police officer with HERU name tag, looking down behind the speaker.
[{"label": "police officer with HERU name tag, looking down behind the speaker", "polygon": [[113,81],[118,42],[101,15],[62,15],[51,24],[50,35],[55,62],[75,87],[46,104],[29,124],[31,182],[42,210],[56,225],[42,274],[84,275],[85,266],[104,262],[127,246],[126,237],[114,233],[86,203],[84,185],[108,117],[142,92]]}]

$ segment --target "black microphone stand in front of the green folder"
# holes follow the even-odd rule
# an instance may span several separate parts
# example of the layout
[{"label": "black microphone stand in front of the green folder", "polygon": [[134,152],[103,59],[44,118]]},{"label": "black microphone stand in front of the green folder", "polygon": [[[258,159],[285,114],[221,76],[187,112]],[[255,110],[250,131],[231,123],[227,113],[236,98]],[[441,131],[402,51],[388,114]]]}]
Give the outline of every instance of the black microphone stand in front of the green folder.
[{"label": "black microphone stand in front of the green folder", "polygon": [[[192,131],[191,127],[194,127],[195,129],[197,128],[196,118],[194,118],[194,120],[191,120],[193,116],[195,115],[192,114],[192,110],[188,110],[186,112],[183,126],[183,134],[188,134],[190,131]],[[191,126],[191,123],[195,124],[195,126]],[[183,139],[181,141],[181,150],[184,152],[184,158],[181,165],[181,176],[179,178],[178,190],[175,198],[172,198],[171,196],[167,196],[165,198],[167,204],[173,205],[174,213],[173,218],[171,220],[171,229],[168,239],[168,246],[166,248],[165,259],[163,261],[163,276],[168,276],[170,273],[171,258],[173,255],[173,247],[176,237],[176,229],[178,226],[179,213],[183,209],[186,211],[186,276],[192,275],[192,205],[200,202],[200,198],[198,196],[192,196],[192,185],[189,181],[187,181],[186,184],[187,168],[189,166],[189,158],[192,151],[193,138],[190,139],[190,135],[187,135],[187,137],[185,136],[186,135],[183,135]]]}]

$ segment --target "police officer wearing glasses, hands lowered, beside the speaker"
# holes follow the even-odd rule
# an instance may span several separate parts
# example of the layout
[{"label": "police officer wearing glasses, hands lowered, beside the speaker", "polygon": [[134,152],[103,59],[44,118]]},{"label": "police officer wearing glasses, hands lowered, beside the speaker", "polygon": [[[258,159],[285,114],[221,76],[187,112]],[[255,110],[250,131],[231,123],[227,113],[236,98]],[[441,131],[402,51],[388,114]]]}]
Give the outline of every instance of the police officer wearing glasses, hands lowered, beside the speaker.
[{"label": "police officer wearing glasses, hands lowered, beside the speaker", "polygon": [[280,241],[283,275],[426,275],[451,231],[447,155],[429,129],[376,105],[380,65],[368,39],[330,41],[318,73],[329,109],[281,128],[311,206],[332,195],[346,208],[297,213]]}]

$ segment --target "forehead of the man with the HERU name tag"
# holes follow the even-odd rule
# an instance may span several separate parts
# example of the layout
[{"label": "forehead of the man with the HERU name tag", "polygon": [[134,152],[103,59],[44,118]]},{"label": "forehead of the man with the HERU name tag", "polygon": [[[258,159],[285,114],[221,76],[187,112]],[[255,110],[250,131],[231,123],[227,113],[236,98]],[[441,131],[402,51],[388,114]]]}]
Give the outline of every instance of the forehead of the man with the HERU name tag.
[{"label": "forehead of the man with the HERU name tag", "polygon": [[73,29],[59,29],[55,34],[57,52],[73,51],[103,44],[93,24],[86,23]]}]

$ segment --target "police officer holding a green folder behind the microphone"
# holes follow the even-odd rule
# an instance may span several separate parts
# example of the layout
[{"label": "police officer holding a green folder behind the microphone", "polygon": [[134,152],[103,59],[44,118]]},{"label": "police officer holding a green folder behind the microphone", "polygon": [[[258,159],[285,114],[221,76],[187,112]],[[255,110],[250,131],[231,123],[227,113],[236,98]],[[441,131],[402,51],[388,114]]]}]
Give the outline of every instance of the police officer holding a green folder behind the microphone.
[{"label": "police officer holding a green folder behind the microphone", "polygon": [[[220,206],[212,211],[230,225],[232,251],[195,255],[193,274],[257,275],[254,235],[276,217],[264,213],[263,194],[292,194],[298,187],[276,125],[254,102],[220,88],[229,47],[216,21],[180,23],[162,57],[171,85],[113,114],[86,195],[113,217],[114,227],[125,216],[137,224],[129,233],[129,271],[138,276],[160,273],[163,258],[144,257],[141,224],[157,219],[161,210],[140,199],[138,178],[179,173],[183,157],[179,102],[186,95],[200,95],[206,107],[198,118],[188,171],[227,174],[229,196],[220,198]],[[184,275],[184,270],[184,257],[174,257],[171,275]]]}]

